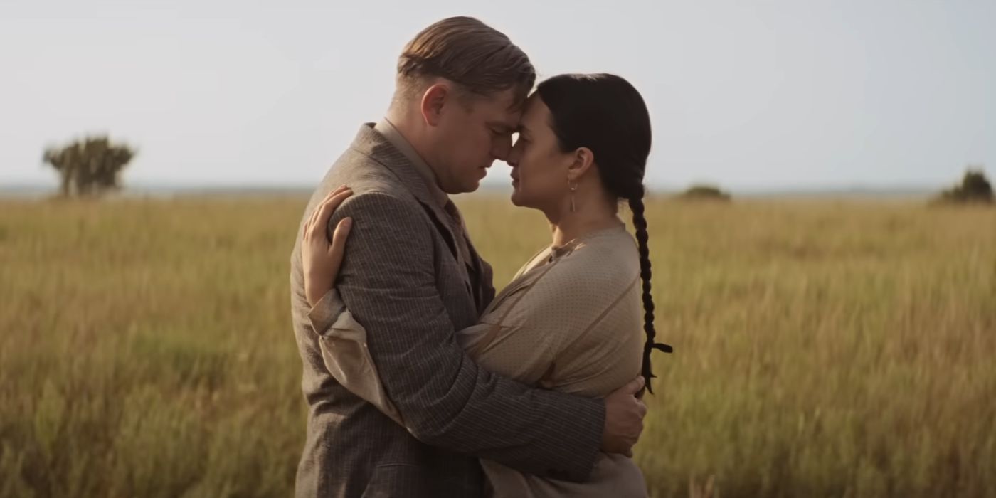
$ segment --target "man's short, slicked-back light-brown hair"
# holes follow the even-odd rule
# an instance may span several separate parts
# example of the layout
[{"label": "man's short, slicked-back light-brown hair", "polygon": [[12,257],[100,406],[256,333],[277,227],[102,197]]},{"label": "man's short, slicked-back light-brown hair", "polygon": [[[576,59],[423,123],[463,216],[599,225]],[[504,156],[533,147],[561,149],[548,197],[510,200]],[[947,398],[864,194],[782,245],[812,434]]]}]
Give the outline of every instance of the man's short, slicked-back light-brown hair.
[{"label": "man's short, slicked-back light-brown hair", "polygon": [[450,17],[415,35],[397,60],[401,97],[415,97],[431,78],[482,97],[512,89],[519,105],[536,83],[536,70],[501,32],[471,17]]}]

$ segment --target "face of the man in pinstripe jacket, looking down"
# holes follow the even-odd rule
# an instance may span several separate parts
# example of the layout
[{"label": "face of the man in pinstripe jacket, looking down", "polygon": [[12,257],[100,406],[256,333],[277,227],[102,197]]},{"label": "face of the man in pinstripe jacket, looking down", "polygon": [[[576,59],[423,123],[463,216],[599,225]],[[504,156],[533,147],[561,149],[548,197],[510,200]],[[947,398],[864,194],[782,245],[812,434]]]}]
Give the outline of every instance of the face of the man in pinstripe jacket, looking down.
[{"label": "face of the man in pinstripe jacket, looking down", "polygon": [[451,96],[435,129],[436,179],[446,193],[477,190],[495,159],[505,160],[521,109],[508,90],[492,97]]}]

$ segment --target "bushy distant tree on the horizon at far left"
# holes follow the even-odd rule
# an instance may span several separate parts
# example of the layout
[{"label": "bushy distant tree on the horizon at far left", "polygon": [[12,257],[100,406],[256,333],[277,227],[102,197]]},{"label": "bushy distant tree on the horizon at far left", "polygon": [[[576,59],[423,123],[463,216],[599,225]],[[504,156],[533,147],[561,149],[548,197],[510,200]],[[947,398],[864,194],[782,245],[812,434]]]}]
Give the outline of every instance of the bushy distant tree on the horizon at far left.
[{"label": "bushy distant tree on the horizon at far left", "polygon": [[48,147],[43,160],[59,172],[60,193],[100,195],[121,187],[121,172],[135,151],[107,136],[89,136],[64,147]]}]

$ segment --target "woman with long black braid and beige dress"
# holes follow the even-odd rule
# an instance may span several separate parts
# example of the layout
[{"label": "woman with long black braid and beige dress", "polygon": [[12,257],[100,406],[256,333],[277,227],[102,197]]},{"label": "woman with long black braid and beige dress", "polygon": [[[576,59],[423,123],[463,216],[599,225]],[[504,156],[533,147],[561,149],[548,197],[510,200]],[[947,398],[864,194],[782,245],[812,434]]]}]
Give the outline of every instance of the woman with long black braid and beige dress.
[{"label": "woman with long black braid and beige dress", "polygon": [[[654,343],[642,200],[649,150],[646,107],[622,78],[562,75],[539,85],[526,104],[508,163],[512,202],[543,211],[553,241],[522,267],[477,325],[457,333],[478,365],[590,396],[605,396],[637,373],[649,380],[651,350],[670,351]],[[323,206],[348,194],[333,192]],[[632,211],[636,244],[618,216],[621,200]],[[324,228],[331,211],[319,206],[309,227]],[[309,235],[313,231],[319,235]],[[324,230],[306,227],[305,234],[303,258],[338,268],[345,232],[337,228],[332,248]],[[312,285],[312,306],[313,296],[321,298],[332,291],[328,287]],[[332,328],[323,334],[329,338],[323,339],[323,355],[330,372],[403,424],[365,352],[363,326],[344,311]],[[639,469],[619,454],[601,455],[591,479],[580,484],[493,461],[481,464],[494,496],[646,495]]]}]

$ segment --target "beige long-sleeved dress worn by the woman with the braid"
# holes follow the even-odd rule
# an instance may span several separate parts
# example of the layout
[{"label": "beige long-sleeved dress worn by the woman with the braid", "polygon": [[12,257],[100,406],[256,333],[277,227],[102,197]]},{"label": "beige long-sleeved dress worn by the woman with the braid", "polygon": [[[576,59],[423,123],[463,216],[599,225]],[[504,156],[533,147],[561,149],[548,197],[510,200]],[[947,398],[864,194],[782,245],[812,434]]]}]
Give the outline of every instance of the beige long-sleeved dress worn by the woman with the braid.
[{"label": "beige long-sleeved dress worn by the woman with the braid", "polygon": [[[342,310],[338,299],[330,292],[315,310]],[[638,254],[621,222],[534,256],[477,325],[457,332],[457,340],[490,372],[603,397],[639,374],[641,316]],[[325,364],[347,388],[403,425],[380,383],[366,338],[363,326],[342,311],[322,335]],[[496,497],[646,496],[639,469],[620,454],[602,453],[584,483],[525,474],[490,460],[481,466]]]}]

